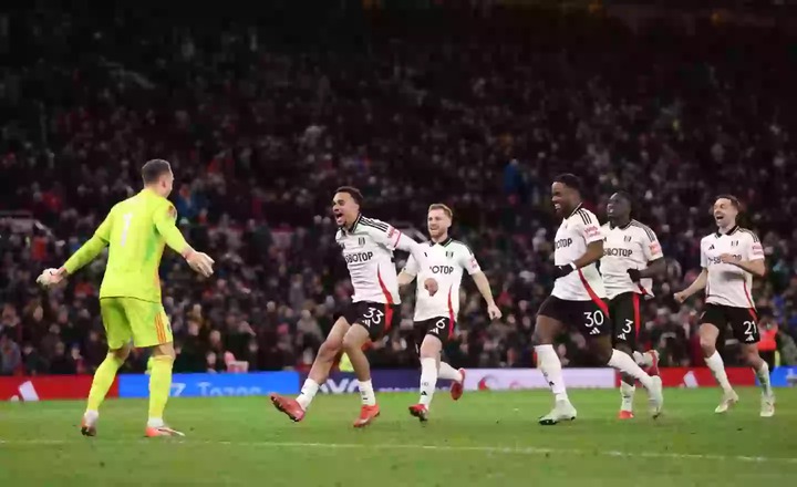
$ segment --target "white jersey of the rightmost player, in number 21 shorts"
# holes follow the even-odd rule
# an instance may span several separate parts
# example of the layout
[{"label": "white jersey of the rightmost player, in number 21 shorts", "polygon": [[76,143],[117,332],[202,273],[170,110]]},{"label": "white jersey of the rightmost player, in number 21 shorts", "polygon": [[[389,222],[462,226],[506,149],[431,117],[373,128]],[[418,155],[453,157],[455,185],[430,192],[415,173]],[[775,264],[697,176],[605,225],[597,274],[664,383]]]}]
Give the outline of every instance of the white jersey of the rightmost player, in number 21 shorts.
[{"label": "white jersey of the rightmost player, in number 21 shorts", "polygon": [[747,261],[764,259],[764,248],[758,237],[736,226],[727,234],[714,232],[701,240],[701,266],[708,270],[706,302],[755,309],[751,296],[753,274],[731,263],[721,262],[720,256],[723,253],[731,253]]}]

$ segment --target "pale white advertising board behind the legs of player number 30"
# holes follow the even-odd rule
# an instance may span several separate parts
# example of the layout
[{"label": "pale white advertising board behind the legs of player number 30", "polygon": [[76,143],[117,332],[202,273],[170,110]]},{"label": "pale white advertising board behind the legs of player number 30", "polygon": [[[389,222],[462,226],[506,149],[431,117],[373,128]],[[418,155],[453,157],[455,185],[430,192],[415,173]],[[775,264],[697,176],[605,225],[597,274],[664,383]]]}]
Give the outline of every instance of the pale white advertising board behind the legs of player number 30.
[{"label": "pale white advertising board behind the legs of player number 30", "polygon": [[[565,384],[570,388],[614,388],[613,369],[563,369]],[[506,391],[548,388],[539,369],[468,369],[468,391]]]}]

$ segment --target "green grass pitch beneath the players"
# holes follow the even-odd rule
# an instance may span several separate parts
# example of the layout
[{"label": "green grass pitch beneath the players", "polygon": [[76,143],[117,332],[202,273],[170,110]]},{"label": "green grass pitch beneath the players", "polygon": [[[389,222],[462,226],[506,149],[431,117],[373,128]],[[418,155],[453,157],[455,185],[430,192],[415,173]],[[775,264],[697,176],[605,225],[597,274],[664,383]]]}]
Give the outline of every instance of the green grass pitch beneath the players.
[{"label": "green grass pitch beneath the players", "polygon": [[143,437],[146,402],[107,401],[99,436],[77,431],[82,402],[0,403],[0,485],[28,486],[755,486],[797,485],[797,391],[773,418],[758,391],[718,416],[718,390],[666,390],[665,414],[615,419],[617,391],[572,391],[576,422],[544,427],[546,391],[438,392],[426,424],[416,394],[380,394],[382,416],[351,426],[356,395],[319,395],[302,423],[266,397],[175,398],[185,438]]}]

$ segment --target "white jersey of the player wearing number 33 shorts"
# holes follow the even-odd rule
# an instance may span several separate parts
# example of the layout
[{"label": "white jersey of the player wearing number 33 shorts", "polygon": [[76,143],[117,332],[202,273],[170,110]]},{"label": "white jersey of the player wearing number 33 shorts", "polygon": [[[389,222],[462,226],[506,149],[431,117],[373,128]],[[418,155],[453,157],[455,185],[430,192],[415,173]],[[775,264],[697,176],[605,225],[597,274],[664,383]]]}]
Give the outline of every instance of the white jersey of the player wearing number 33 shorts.
[{"label": "white jersey of the player wearing number 33 shorts", "polygon": [[384,221],[358,217],[351,230],[338,230],[335,241],[349,267],[354,296],[352,302],[398,304],[398,279],[393,250],[402,234]]}]

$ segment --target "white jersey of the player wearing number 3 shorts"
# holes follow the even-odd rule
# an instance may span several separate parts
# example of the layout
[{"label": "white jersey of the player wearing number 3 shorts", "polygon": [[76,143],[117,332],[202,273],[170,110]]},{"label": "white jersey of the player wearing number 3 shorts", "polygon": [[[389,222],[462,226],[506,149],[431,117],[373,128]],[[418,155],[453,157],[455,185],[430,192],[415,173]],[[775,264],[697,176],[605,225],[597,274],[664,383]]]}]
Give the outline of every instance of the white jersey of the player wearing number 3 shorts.
[{"label": "white jersey of the player wearing number 3 shorts", "polygon": [[603,232],[603,257],[600,272],[609,299],[623,292],[653,296],[653,279],[641,279],[633,282],[628,274],[629,269],[645,269],[648,262],[661,259],[661,245],[650,227],[631,220],[624,227],[612,227],[605,224]]}]

